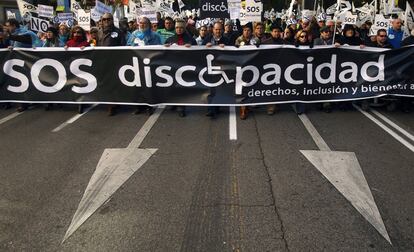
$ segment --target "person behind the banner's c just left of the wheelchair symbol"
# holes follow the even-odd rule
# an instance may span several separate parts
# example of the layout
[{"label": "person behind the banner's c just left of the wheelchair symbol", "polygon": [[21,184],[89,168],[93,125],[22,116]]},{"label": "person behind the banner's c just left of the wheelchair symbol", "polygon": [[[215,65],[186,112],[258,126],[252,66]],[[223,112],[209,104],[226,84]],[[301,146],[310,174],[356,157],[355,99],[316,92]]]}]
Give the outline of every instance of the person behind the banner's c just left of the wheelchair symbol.
[{"label": "person behind the banner's c just left of the wheelchair symbol", "polygon": [[[169,37],[164,45],[171,46],[171,45],[178,45],[178,46],[185,46],[191,47],[192,45],[197,45],[195,39],[186,31],[185,29],[186,23],[184,20],[179,19],[175,21],[175,35]],[[184,106],[177,106],[176,107],[178,115],[180,117],[186,116],[186,110]]]}]

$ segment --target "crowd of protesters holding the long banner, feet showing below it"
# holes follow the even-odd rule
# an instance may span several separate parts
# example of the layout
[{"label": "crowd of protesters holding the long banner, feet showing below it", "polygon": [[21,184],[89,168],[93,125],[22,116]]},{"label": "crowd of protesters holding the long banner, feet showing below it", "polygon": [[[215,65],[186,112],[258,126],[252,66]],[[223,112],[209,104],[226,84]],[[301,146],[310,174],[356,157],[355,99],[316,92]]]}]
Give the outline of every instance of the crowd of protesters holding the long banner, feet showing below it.
[{"label": "crowd of protesters holding the long banner, feet showing below it", "polygon": [[[296,47],[310,47],[322,45],[379,47],[396,49],[414,44],[414,29],[411,35],[403,39],[401,20],[394,18],[388,30],[379,29],[376,34],[370,34],[372,23],[365,22],[361,26],[341,25],[333,20],[324,18],[304,17],[302,19],[289,19],[282,22],[280,19],[269,19],[264,22],[247,23],[217,19],[210,25],[196,27],[197,18],[176,19],[170,17],[159,18],[158,23],[151,23],[146,17],[128,22],[127,19],[119,21],[119,28],[115,27],[113,16],[106,13],[101,20],[94,24],[89,32],[80,26],[67,27],[61,24],[49,27],[45,33],[34,33],[21,25],[16,19],[9,19],[0,33],[0,48],[35,48],[35,47],[79,47],[87,46],[146,46],[146,45],[178,45],[178,46],[246,46],[261,44],[294,45]],[[0,25],[1,26],[1,25]],[[282,28],[283,27],[283,28]],[[236,28],[236,29],[235,29]],[[365,101],[364,104],[366,104]],[[409,98],[400,102],[402,109],[409,112],[412,106]],[[10,104],[6,105],[9,108]],[[51,105],[46,105],[50,109]],[[296,111],[303,113],[304,104],[296,104]],[[342,109],[349,108],[349,104],[340,103]],[[366,107],[366,106],[364,106]],[[331,103],[324,103],[321,108],[330,112]],[[20,104],[18,111],[27,109],[27,105]],[[137,112],[143,107],[139,107]],[[144,107],[149,114],[152,108]],[[185,107],[175,107],[180,116],[186,115]],[[109,115],[115,114],[116,107],[109,107]],[[267,113],[272,115],[277,110],[275,105],[267,106]],[[246,119],[249,108],[240,108],[240,118]],[[83,106],[79,106],[83,112]],[[215,118],[219,112],[218,107],[209,107],[208,116]]]}]

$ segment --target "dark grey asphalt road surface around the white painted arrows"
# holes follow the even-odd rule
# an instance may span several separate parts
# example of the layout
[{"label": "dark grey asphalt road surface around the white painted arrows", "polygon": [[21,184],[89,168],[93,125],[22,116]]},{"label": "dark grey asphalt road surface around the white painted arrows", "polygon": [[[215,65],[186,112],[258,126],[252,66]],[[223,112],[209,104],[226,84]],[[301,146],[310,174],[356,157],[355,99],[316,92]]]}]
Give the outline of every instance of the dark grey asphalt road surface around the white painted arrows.
[{"label": "dark grey asphalt road surface around the white painted arrows", "polygon": [[[0,123],[0,250],[414,249],[412,150],[357,110],[307,113],[332,150],[355,153],[391,245],[301,154],[318,147],[290,106],[253,110],[230,140],[227,108],[216,120],[166,109],[140,146],[158,151],[63,243],[103,151],[126,148],[148,116],[97,106],[53,132],[76,107],[37,106]],[[413,114],[378,111],[414,135]]]}]

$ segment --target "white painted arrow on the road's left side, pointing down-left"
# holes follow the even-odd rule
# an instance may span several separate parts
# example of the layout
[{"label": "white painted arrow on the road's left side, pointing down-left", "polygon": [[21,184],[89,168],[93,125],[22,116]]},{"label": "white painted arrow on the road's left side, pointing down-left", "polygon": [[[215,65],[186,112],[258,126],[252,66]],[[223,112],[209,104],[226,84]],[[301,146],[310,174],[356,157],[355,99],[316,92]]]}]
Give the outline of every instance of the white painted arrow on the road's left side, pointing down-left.
[{"label": "white painted arrow on the road's left side, pointing down-left", "polygon": [[101,207],[157,149],[139,149],[165,107],[156,109],[124,149],[105,149],[62,243]]}]

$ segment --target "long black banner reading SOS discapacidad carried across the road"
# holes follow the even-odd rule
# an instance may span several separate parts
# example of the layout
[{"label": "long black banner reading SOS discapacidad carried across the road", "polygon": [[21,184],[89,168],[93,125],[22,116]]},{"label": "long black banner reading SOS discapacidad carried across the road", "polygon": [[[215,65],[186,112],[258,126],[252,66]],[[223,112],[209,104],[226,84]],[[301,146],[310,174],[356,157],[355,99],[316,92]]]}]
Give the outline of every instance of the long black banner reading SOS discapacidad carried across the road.
[{"label": "long black banner reading SOS discapacidad carried across the road", "polygon": [[414,47],[0,50],[0,102],[246,105],[414,96]]}]

